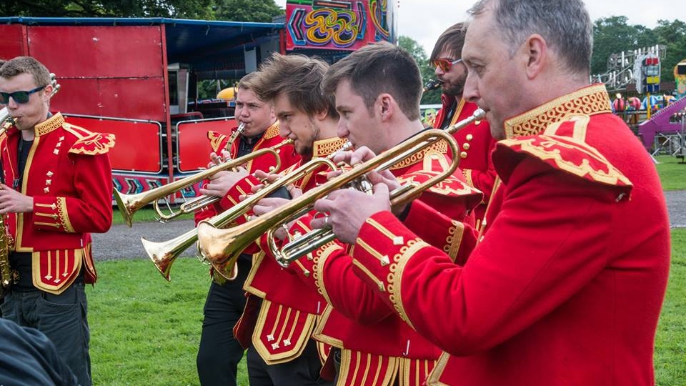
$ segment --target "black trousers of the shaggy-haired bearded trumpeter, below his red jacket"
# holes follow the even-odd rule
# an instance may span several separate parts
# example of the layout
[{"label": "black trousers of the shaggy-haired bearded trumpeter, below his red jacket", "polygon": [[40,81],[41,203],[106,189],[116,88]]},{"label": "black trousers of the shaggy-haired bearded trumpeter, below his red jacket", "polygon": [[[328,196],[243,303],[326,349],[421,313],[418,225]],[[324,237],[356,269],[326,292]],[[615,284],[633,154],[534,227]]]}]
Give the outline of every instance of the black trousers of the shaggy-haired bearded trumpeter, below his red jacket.
[{"label": "black trousers of the shaggy-haired bearded trumpeter, below his red jacket", "polygon": [[333,385],[319,377],[322,362],[319,360],[317,345],[311,339],[307,341],[302,355],[290,362],[267,365],[253,346],[248,349],[247,360],[250,386]]}]

